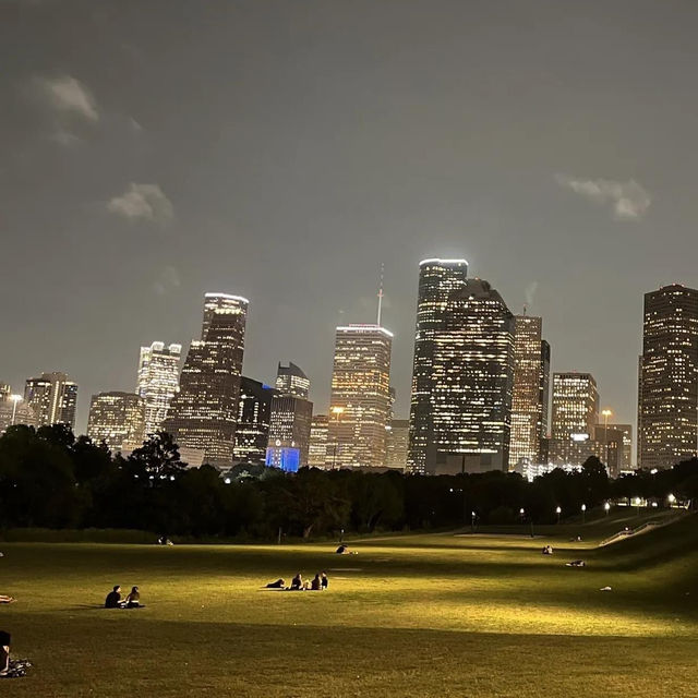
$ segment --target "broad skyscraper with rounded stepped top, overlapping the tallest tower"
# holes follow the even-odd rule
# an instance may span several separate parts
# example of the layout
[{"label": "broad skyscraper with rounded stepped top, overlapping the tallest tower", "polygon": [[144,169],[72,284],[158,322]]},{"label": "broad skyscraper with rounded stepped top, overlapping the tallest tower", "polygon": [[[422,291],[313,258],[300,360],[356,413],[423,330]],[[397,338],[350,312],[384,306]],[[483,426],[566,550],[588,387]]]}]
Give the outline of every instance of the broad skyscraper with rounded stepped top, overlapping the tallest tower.
[{"label": "broad skyscraper with rounded stepped top, overlapping the tallest tower", "polygon": [[429,472],[507,470],[514,316],[488,281],[453,291],[433,332]]}]

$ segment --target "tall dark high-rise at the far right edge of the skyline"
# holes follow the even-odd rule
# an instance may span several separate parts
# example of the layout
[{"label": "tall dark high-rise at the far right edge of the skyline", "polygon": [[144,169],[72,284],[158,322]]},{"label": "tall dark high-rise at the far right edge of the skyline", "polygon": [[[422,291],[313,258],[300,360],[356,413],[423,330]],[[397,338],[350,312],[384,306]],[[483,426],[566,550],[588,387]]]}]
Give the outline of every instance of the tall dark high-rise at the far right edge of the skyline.
[{"label": "tall dark high-rise at the far right edge of the skyline", "polygon": [[698,448],[698,290],[645,294],[638,467],[669,468]]}]

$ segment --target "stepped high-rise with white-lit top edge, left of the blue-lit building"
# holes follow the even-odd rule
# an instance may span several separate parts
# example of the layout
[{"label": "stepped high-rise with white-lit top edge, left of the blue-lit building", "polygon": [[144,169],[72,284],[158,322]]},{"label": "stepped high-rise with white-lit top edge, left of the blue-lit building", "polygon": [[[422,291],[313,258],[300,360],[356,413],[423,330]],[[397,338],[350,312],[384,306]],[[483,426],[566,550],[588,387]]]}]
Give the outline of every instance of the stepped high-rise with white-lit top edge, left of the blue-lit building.
[{"label": "stepped high-rise with white-lit top edge, left of the blue-lit building", "polygon": [[233,459],[248,300],[206,293],[201,340],[193,340],[172,398],[165,431],[181,446],[203,452],[204,462]]}]

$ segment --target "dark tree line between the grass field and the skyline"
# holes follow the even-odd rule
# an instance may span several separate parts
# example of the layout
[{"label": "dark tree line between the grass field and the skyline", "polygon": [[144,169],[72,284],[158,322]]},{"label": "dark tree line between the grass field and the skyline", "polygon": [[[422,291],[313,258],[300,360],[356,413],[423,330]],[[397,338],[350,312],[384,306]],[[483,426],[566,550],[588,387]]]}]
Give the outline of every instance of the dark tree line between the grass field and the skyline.
[{"label": "dark tree line between the grass field and the skyline", "polygon": [[589,458],[529,483],[516,473],[404,476],[241,464],[225,477],[186,468],[160,432],[128,457],[62,424],[10,426],[0,436],[0,528],[116,528],[195,538],[274,540],[340,531],[399,531],[473,524],[553,524],[607,501],[665,505],[698,500],[698,460],[610,480]]}]

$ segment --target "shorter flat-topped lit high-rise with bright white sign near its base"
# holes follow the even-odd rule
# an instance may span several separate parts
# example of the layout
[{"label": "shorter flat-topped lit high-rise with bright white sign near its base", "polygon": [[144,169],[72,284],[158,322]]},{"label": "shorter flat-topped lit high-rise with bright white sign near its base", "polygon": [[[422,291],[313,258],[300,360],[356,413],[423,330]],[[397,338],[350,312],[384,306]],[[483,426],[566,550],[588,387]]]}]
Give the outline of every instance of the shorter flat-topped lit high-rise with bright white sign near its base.
[{"label": "shorter flat-topped lit high-rise with bright white sign near its base", "polygon": [[590,373],[553,374],[550,460],[581,465],[592,454],[589,452],[591,446],[580,444],[593,441],[598,422],[599,392],[594,377]]}]

